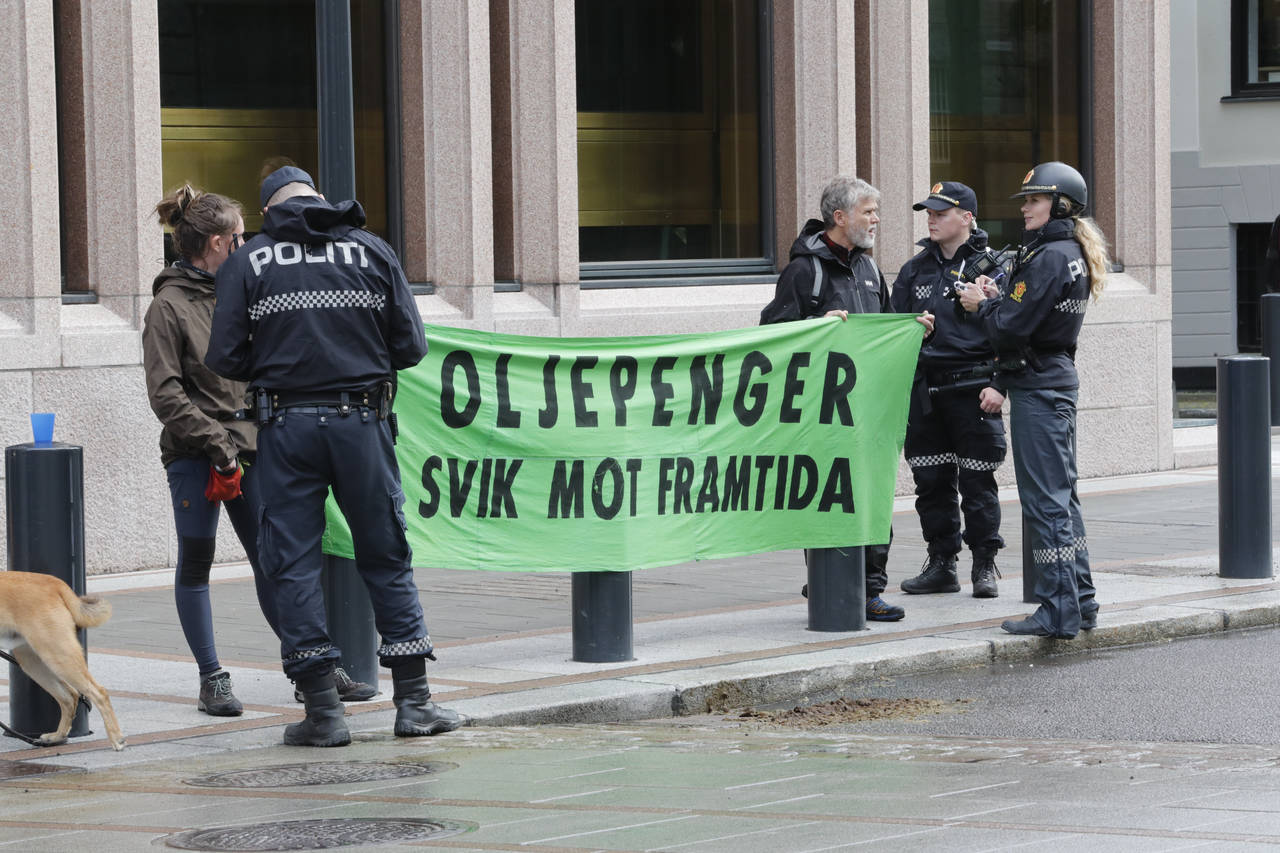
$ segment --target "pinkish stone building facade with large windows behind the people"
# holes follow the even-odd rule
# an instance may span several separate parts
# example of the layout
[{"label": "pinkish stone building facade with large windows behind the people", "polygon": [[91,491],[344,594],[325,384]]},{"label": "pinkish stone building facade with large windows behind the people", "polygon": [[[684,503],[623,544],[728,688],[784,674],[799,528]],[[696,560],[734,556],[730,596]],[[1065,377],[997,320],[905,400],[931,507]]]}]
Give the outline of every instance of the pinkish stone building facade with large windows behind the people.
[{"label": "pinkish stone building facade with large windows behind the people", "polygon": [[[90,571],[172,565],[141,368],[166,251],[151,209],[189,181],[243,201],[253,231],[262,163],[314,168],[315,4],[5,6],[0,439],[56,412],[56,438],[84,447]],[[1164,0],[349,8],[357,196],[428,323],[754,325],[832,175],[883,193],[876,257],[892,279],[933,181],[974,186],[998,246],[1016,241],[1006,196],[1023,173],[1064,159],[1123,268],[1080,341],[1080,473],[1171,467]],[[224,535],[219,558],[237,557]]]}]

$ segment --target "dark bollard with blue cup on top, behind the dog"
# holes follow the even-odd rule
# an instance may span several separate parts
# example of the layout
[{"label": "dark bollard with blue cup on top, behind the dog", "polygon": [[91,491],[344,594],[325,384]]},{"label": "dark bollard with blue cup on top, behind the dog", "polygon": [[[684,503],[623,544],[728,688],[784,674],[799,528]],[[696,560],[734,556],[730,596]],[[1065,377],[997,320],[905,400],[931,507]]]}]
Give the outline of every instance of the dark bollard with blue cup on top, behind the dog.
[{"label": "dark bollard with blue cup on top, behind the dog", "polygon": [[[9,569],[52,575],[84,594],[84,461],[74,444],[41,442],[4,451]],[[88,635],[77,631],[88,656]],[[9,725],[26,735],[58,729],[61,711],[45,689],[9,665]],[[82,703],[72,738],[92,734]]]}]

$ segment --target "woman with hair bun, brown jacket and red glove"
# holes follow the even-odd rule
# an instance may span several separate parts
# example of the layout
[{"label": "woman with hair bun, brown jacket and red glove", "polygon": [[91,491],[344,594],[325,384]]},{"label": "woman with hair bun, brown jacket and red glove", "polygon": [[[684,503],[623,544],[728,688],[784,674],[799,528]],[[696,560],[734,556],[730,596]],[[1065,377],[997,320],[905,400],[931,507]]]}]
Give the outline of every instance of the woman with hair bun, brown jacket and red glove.
[{"label": "woman with hair bun, brown jacket and red glove", "polygon": [[[214,562],[219,506],[248,555],[259,606],[276,631],[275,597],[257,562],[257,502],[252,461],[257,430],[237,420],[246,386],[205,366],[214,315],[214,275],[244,240],[238,202],[182,186],[160,200],[155,213],[173,229],[178,260],[156,275],[142,329],[147,398],[160,419],[160,461],[169,479],[178,533],[174,598],[178,621],[200,669],[197,707],[211,716],[239,716],[230,674],[218,661],[209,571]],[[346,674],[343,674],[346,675]],[[352,699],[376,689],[339,679]],[[344,695],[343,698],[347,698]]]}]

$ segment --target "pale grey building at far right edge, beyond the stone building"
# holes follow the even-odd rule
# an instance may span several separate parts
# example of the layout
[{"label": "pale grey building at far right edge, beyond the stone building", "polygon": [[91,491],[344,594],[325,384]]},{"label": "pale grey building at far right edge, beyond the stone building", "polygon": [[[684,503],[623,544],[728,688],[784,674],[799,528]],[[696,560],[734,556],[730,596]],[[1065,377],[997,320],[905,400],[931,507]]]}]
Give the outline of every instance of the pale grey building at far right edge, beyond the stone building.
[{"label": "pale grey building at far right edge, beyond the stone building", "polygon": [[1172,0],[1174,377],[1261,350],[1258,297],[1280,214],[1280,3]]}]

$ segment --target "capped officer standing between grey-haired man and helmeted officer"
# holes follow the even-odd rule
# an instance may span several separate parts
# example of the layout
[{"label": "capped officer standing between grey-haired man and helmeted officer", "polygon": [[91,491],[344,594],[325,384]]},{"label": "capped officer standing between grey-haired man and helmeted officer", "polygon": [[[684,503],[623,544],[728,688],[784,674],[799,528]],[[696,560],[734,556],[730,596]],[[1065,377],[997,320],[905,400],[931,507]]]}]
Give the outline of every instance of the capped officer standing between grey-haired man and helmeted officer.
[{"label": "capped officer standing between grey-haired man and helmeted officer", "polygon": [[[947,298],[955,292],[965,263],[987,248],[987,232],[978,228],[978,196],[963,183],[942,181],[929,196],[913,205],[928,210],[929,236],[893,283],[893,310],[905,314],[932,311],[933,336],[920,348],[915,388],[906,421],[906,464],[915,479],[915,511],[929,547],[924,569],[902,581],[902,592],[960,592],[956,555],[960,552],[960,516],[973,552],[973,594],[998,594],[996,552],[1000,537],[1000,498],[996,469],[1005,460],[1004,397],[992,387],[955,386],[960,377],[991,369],[995,351],[982,324]],[[927,388],[940,388],[931,397]],[[995,401],[986,411],[980,398]]]}]

